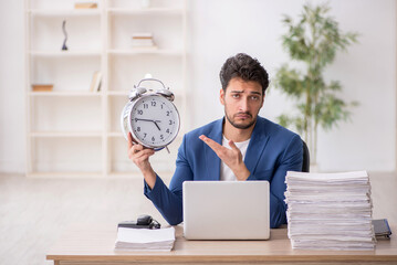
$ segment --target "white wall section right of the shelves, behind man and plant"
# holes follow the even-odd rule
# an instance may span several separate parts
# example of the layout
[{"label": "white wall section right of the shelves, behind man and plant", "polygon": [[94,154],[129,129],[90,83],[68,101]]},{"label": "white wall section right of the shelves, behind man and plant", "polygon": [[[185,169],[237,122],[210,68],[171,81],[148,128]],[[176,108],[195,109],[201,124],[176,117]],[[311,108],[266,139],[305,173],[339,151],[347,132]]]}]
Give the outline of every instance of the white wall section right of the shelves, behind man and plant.
[{"label": "white wall section right of the shelves, behind man and plant", "polygon": [[[270,76],[289,62],[281,46],[282,14],[297,18],[306,1],[190,1],[190,63],[194,127],[222,115],[219,70],[238,52],[258,57]],[[314,1],[324,2],[324,1]],[[321,170],[393,171],[396,166],[396,2],[333,0],[331,14],[343,31],[361,33],[359,44],[339,53],[326,78],[338,80],[346,100],[359,102],[352,123],[320,131]],[[261,114],[272,120],[291,109],[278,91],[268,93]]]}]

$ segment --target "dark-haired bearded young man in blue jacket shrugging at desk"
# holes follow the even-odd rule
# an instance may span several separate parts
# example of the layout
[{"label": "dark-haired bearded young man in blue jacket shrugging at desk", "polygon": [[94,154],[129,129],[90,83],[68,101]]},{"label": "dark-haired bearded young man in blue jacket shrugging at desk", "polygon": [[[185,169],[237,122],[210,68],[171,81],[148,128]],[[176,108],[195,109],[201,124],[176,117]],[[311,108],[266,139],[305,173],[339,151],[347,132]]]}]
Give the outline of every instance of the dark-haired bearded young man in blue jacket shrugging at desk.
[{"label": "dark-haired bearded young man in blue jacket shrugging at desk", "polygon": [[278,227],[286,223],[286,171],[302,169],[302,140],[258,116],[269,77],[255,59],[242,53],[229,57],[220,71],[220,81],[224,117],[184,136],[169,188],[149,163],[154,150],[133,145],[129,136],[128,156],[144,174],[145,195],[171,225],[182,221],[186,180],[268,180],[270,225]]}]

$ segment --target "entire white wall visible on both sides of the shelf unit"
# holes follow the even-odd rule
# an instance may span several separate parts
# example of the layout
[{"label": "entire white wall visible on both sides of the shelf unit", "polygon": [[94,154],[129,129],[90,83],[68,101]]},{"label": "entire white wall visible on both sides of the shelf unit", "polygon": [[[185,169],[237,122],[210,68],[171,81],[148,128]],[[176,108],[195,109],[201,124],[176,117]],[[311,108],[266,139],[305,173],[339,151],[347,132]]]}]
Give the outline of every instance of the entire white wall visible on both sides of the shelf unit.
[{"label": "entire white wall visible on both sides of the shelf unit", "polygon": [[[258,57],[271,76],[289,62],[281,47],[283,13],[296,15],[301,0],[188,0],[190,128],[222,116],[219,70],[238,52]],[[320,1],[315,1],[320,2]],[[321,1],[323,2],[323,1]],[[359,44],[337,56],[326,77],[358,100],[353,123],[318,136],[322,170],[393,171],[396,167],[396,2],[332,0],[344,31]],[[24,172],[23,0],[0,2],[0,171]],[[261,115],[274,120],[291,102],[270,91]]]}]

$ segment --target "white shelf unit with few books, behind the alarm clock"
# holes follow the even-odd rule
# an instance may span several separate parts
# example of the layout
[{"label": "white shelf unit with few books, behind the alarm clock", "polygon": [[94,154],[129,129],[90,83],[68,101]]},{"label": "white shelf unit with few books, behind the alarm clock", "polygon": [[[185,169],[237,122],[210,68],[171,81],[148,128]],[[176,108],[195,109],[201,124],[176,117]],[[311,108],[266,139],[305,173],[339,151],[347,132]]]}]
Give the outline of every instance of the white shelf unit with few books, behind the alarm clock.
[{"label": "white shelf unit with few books, behind the alarm clock", "polygon": [[[98,0],[96,9],[74,9],[75,2],[25,0],[27,176],[142,178],[128,160],[119,115],[147,73],[175,93],[181,116],[170,155],[150,158],[169,174],[188,116],[186,0]],[[67,51],[61,51],[63,21]],[[133,47],[140,32],[152,32],[157,49]],[[91,92],[96,71],[101,91]],[[33,84],[53,91],[33,92]]]}]

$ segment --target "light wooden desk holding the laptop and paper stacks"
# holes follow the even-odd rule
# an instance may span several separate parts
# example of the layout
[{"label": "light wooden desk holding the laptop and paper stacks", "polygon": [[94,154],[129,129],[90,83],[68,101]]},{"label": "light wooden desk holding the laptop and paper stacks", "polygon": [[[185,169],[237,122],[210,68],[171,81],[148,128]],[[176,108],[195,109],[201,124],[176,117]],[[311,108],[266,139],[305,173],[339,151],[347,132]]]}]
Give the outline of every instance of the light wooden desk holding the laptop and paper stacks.
[{"label": "light wooden desk holding the laptop and paper stacks", "polygon": [[[397,226],[391,226],[396,232]],[[49,252],[62,264],[397,264],[397,237],[382,240],[375,251],[292,250],[286,227],[271,230],[270,241],[187,241],[176,226],[171,252],[115,252],[115,225],[73,229]]]}]

